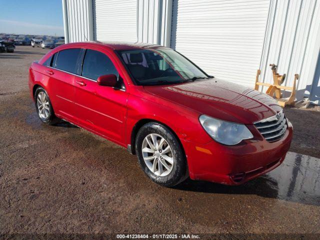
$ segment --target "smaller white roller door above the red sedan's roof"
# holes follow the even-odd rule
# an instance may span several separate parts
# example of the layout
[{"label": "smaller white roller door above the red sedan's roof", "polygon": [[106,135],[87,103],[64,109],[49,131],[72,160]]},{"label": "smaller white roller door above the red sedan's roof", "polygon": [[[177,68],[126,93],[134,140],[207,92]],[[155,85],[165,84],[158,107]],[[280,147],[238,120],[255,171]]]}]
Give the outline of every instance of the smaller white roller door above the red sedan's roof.
[{"label": "smaller white roller door above the red sedan's roof", "polygon": [[137,40],[136,0],[93,0],[92,7],[95,40]]}]

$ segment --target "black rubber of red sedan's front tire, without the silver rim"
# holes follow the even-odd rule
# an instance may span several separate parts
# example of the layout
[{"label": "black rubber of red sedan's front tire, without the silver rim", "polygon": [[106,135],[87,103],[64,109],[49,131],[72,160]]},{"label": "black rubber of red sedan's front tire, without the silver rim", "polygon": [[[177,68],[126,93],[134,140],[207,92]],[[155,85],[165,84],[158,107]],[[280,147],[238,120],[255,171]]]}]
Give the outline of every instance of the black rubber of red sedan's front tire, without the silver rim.
[{"label": "black rubber of red sedan's front tire, without the silver rim", "polygon": [[[172,153],[174,155],[173,168],[171,172],[166,176],[155,175],[153,172],[149,170],[149,168],[146,166],[143,160],[142,150],[141,150],[142,141],[145,138],[145,136],[150,133],[156,133],[164,137],[164,139],[168,142],[168,144],[172,149]],[[138,163],[141,169],[155,183],[163,186],[171,187],[180,183],[182,180],[184,180],[184,176],[186,173],[185,155],[179,141],[177,140],[175,135],[172,133],[172,131],[166,126],[158,122],[149,122],[143,125],[139,129],[136,135],[135,152],[137,154]]]}]

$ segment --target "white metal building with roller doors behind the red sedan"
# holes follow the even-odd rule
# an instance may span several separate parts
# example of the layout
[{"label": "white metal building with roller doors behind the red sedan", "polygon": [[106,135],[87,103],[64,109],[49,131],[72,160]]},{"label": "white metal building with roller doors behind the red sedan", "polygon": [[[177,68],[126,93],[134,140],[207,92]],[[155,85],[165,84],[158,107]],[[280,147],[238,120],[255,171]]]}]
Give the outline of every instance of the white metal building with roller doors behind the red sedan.
[{"label": "white metal building with roller doors behind the red sedan", "polygon": [[319,0],[62,0],[67,42],[148,42],[171,47],[208,74],[253,87],[269,63],[297,99],[320,103]]}]

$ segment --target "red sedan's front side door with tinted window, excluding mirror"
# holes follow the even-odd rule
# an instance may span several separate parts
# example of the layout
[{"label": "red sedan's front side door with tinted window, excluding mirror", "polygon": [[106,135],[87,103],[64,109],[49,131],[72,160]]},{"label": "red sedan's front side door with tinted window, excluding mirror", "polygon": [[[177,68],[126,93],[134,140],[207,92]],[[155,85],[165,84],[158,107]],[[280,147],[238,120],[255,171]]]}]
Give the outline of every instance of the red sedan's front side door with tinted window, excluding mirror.
[{"label": "red sedan's front side door with tinted window, excluding mirror", "polygon": [[[112,140],[124,142],[126,118],[125,91],[112,57],[100,48],[86,49],[81,76],[75,76],[75,114],[80,125]],[[118,88],[100,86],[96,80],[100,75],[115,74]]]}]

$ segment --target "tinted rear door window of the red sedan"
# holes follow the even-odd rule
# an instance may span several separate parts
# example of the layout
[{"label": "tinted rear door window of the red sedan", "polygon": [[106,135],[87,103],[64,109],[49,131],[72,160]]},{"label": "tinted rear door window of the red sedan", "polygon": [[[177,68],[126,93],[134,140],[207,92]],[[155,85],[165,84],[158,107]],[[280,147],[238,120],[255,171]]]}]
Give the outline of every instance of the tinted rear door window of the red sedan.
[{"label": "tinted rear door window of the red sedan", "polygon": [[55,61],[55,68],[76,73],[76,61],[80,48],[70,48],[59,51]]}]

